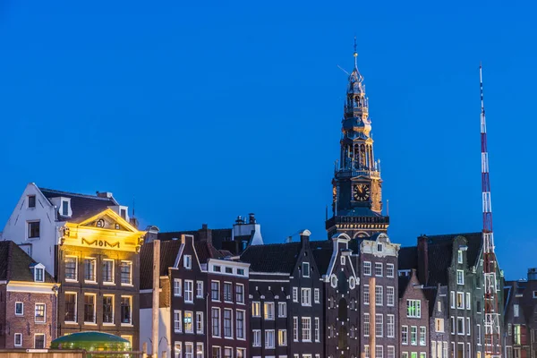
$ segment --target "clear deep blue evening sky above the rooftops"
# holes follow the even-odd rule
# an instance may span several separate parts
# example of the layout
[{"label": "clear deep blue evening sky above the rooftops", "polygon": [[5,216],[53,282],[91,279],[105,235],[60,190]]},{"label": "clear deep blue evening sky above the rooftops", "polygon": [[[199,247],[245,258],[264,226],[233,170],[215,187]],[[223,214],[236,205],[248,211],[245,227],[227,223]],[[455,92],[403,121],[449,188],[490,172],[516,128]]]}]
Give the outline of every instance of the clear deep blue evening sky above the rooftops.
[{"label": "clear deep blue evening sky above the rooftops", "polygon": [[482,61],[500,265],[537,267],[536,4],[197,3],[0,3],[0,221],[35,182],[324,239],[356,34],[392,241],[482,229]]}]

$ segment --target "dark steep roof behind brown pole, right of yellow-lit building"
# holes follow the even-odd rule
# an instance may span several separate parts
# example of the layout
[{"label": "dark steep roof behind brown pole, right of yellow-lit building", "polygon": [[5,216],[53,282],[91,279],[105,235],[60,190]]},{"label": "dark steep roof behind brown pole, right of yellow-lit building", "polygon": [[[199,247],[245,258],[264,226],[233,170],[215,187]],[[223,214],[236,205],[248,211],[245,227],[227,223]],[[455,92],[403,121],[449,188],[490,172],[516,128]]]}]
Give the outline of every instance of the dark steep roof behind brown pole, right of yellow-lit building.
[{"label": "dark steep roof behind brown pole, right of yellow-lit building", "polygon": [[[168,268],[174,266],[180,247],[180,240],[160,243],[160,276],[167,276]],[[144,243],[140,250],[140,289],[151,288],[153,288],[153,243]]]}]

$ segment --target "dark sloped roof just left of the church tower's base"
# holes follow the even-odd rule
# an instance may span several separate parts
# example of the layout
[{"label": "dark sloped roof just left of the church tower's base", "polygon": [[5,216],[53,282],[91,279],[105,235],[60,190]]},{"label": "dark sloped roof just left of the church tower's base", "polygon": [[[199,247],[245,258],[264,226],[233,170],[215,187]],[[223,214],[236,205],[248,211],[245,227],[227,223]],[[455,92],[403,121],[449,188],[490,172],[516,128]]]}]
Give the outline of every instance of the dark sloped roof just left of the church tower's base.
[{"label": "dark sloped roof just left of the church tower's base", "polygon": [[302,243],[269,243],[253,245],[241,254],[241,261],[250,263],[254,272],[291,274]]}]

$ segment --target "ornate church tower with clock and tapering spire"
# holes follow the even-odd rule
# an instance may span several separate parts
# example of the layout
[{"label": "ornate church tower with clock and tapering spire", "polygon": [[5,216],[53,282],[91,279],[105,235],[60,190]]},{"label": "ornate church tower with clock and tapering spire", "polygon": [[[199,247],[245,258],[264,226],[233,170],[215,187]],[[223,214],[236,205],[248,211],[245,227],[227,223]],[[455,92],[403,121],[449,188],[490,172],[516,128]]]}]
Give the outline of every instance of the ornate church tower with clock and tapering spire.
[{"label": "ornate church tower with clock and tapering spire", "polygon": [[380,160],[375,160],[368,98],[358,71],[354,41],[354,70],[346,91],[340,158],[336,162],[332,214],[326,222],[328,238],[345,233],[352,238],[386,233],[389,217],[382,216]]}]

